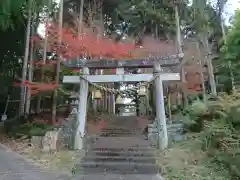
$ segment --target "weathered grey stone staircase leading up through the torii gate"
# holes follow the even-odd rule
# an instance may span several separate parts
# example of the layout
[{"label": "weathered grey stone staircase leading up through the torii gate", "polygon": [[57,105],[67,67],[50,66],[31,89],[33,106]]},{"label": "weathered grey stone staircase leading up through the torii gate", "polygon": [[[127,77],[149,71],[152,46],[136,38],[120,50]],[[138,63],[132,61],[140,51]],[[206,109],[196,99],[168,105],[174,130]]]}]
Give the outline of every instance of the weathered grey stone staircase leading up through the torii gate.
[{"label": "weathered grey stone staircase leading up through the torii gate", "polygon": [[[122,120],[122,121],[121,121]],[[134,118],[116,118],[97,136],[75,172],[84,179],[159,179],[154,147],[141,135]],[[103,175],[105,178],[103,178]],[[128,178],[126,178],[128,176]],[[101,179],[101,178],[100,178]]]}]

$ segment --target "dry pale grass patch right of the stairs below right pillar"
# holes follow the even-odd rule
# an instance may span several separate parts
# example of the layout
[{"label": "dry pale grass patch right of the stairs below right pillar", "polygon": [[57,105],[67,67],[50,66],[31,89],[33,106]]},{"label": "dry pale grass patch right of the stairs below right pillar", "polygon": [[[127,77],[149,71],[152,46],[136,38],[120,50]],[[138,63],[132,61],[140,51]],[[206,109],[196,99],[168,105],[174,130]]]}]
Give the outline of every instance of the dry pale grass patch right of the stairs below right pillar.
[{"label": "dry pale grass patch right of the stairs below right pillar", "polygon": [[230,180],[228,171],[211,162],[202,150],[199,134],[174,143],[165,152],[156,152],[157,164],[165,180]]}]

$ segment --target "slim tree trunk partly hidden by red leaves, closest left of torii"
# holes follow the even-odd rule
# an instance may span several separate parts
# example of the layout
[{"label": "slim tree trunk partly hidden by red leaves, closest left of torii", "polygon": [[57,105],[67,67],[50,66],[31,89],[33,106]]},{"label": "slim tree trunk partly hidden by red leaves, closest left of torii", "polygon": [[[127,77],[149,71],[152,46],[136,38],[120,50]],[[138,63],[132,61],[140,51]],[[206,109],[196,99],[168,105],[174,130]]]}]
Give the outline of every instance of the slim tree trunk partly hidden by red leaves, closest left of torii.
[{"label": "slim tree trunk partly hidden by red leaves, closest left of torii", "polygon": [[[62,43],[62,25],[63,25],[63,0],[60,0],[60,3],[59,3],[59,20],[58,20],[58,23],[59,23],[59,30],[58,30],[58,44],[59,46],[61,45]],[[55,83],[56,84],[59,84],[59,79],[60,79],[60,58],[58,56],[57,58],[57,65],[56,65],[56,75],[55,75]],[[52,104],[52,122],[54,123],[56,121],[56,117],[57,117],[57,96],[58,96],[58,91],[57,89],[54,90],[53,92],[53,104]]]}]

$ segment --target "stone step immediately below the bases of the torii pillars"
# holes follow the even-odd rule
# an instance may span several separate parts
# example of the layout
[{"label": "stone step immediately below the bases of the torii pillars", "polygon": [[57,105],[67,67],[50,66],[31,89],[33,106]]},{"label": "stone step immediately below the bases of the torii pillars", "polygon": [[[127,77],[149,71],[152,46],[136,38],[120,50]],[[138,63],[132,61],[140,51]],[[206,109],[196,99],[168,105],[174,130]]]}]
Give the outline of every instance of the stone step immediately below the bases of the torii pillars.
[{"label": "stone step immediately below the bases of the torii pillars", "polygon": [[112,151],[88,151],[86,153],[86,156],[89,155],[96,155],[96,156],[108,156],[108,157],[115,157],[115,156],[121,156],[121,157],[153,157],[153,153],[151,151],[140,151],[140,152],[112,152]]}]

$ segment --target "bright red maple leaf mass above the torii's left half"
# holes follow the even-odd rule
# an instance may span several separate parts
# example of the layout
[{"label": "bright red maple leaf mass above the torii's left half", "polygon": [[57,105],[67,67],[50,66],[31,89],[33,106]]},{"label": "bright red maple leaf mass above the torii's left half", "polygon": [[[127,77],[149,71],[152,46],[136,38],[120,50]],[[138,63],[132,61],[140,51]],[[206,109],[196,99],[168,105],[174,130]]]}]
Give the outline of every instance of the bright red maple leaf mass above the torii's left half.
[{"label": "bright red maple leaf mass above the torii's left half", "polygon": [[[48,27],[48,51],[56,52],[61,60],[73,60],[77,57],[90,59],[122,59],[131,58],[131,51],[136,49],[134,43],[116,43],[109,38],[98,37],[90,31],[77,35],[71,28],[62,28],[61,34],[57,25]],[[61,43],[59,36],[62,37]],[[34,37],[35,42],[43,46],[40,38]]]}]

